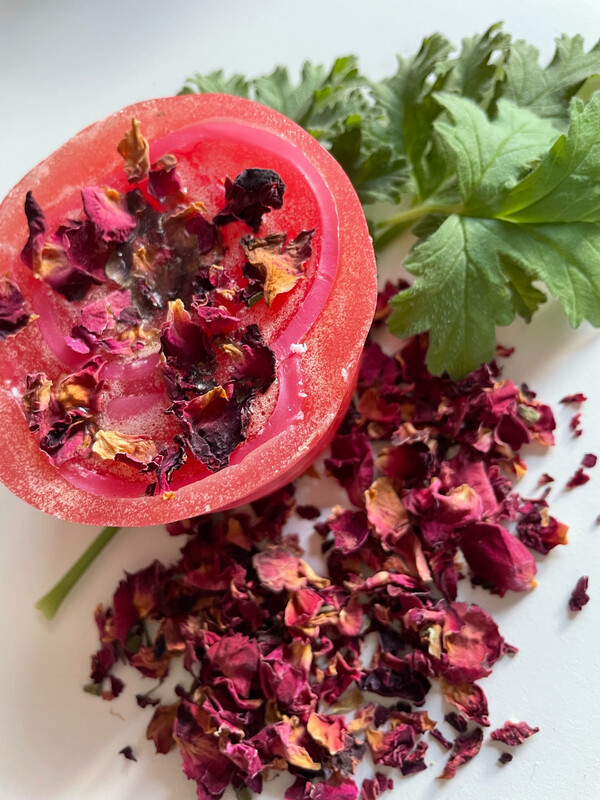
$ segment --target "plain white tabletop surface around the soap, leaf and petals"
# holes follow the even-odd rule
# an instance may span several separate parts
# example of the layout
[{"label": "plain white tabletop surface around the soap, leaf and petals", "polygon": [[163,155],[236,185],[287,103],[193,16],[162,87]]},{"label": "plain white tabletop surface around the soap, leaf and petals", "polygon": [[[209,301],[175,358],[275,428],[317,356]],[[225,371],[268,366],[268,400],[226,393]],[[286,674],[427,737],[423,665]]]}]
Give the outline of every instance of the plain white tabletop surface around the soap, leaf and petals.
[{"label": "plain white tabletop surface around the soap, leaf and petals", "polygon": [[[592,0],[0,0],[0,196],[80,128],[137,100],[172,94],[194,71],[253,75],[357,53],[377,78],[392,72],[397,52],[415,52],[424,35],[439,30],[458,42],[498,19],[546,56],[563,31],[584,33],[588,45],[600,36],[600,7]],[[539,587],[530,595],[475,595],[521,649],[482,683],[492,726],[512,717],[541,732],[504,768],[496,765],[498,749],[484,744],[449,784],[434,780],[443,756],[431,742],[435,766],[398,777],[392,800],[600,797],[600,465],[586,486],[561,489],[585,452],[600,452],[599,334],[569,331],[549,305],[532,327],[500,338],[519,348],[506,374],[526,380],[543,400],[556,403],[575,391],[590,398],[579,439],[568,430],[572,410],[555,406],[559,444],[530,460],[522,482],[526,494],[541,472],[557,478],[552,509],[570,524],[570,544],[540,559]],[[191,800],[195,786],[180,773],[177,755],[155,756],[145,741],[151,709],[135,705],[133,676],[125,676],[127,689],[112,704],[81,690],[96,647],[96,604],[110,600],[123,569],[168,559],[182,542],[161,528],[122,532],[54,622],[33,608],[94,533],[44,516],[0,487],[0,800]],[[583,573],[592,599],[570,618],[566,603]],[[434,700],[430,708],[439,719]],[[117,755],[128,744],[137,764]],[[281,797],[282,786],[267,796]]]}]

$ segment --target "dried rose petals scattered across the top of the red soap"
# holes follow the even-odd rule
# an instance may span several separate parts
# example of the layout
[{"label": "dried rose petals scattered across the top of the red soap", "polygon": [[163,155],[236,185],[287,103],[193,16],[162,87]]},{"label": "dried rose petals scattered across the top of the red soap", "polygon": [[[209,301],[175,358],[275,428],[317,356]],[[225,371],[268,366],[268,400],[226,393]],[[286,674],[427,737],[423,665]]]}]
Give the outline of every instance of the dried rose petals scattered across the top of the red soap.
[{"label": "dried rose petals scattered across the top of the red soap", "polygon": [[[188,460],[211,472],[223,469],[247,439],[253,404],[277,377],[274,353],[247,312],[263,297],[270,306],[305,277],[314,230],[294,239],[287,232],[255,238],[234,226],[227,238],[223,226],[238,222],[258,233],[263,216],[282,207],[285,186],[277,173],[251,168],[227,179],[225,206],[211,219],[204,203],[184,190],[174,155],[150,163],[136,119],[117,149],[130,188],[84,186],[83,219],[52,232],[27,194],[22,260],[35,277],[68,301],[86,300],[92,287],[105,286],[80,306],[79,321],[65,336],[75,357],[92,360],[72,375],[26,376],[23,409],[55,466],[91,459],[93,469],[101,462],[109,474],[129,468],[152,477],[146,487],[140,481],[140,495],[169,499]],[[230,264],[230,253],[237,263]],[[18,287],[3,278],[0,341],[31,319]],[[132,357],[157,350],[168,433],[133,435],[103,424],[103,398],[112,388],[103,365],[127,370]],[[78,389],[84,380],[87,388]],[[75,391],[80,396],[71,402],[67,395]]]}]

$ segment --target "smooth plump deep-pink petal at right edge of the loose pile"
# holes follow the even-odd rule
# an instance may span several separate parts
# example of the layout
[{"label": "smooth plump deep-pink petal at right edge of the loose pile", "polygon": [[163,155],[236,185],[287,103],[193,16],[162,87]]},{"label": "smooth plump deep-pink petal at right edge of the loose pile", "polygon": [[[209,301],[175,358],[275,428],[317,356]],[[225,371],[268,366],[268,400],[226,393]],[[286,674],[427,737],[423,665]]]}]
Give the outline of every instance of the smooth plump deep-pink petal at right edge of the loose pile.
[{"label": "smooth plump deep-pink petal at right edge of the loose pile", "polygon": [[502,525],[468,525],[461,531],[460,547],[474,574],[492,583],[501,595],[535,586],[533,556]]}]

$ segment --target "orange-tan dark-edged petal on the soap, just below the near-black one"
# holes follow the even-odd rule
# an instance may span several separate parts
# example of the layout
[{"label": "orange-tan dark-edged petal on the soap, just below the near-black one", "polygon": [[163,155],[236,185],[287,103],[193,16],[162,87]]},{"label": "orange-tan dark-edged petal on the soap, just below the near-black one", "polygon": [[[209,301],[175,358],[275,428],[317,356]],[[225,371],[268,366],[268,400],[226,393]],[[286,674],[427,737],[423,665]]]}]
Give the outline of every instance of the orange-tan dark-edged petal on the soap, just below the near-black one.
[{"label": "orange-tan dark-edged petal on the soap, just below the near-black one", "polygon": [[314,230],[302,231],[287,244],[285,233],[271,233],[264,239],[242,237],[240,244],[249,265],[245,275],[260,284],[267,306],[278,294],[290,292],[304,278],[303,265],[312,255],[314,233]]}]

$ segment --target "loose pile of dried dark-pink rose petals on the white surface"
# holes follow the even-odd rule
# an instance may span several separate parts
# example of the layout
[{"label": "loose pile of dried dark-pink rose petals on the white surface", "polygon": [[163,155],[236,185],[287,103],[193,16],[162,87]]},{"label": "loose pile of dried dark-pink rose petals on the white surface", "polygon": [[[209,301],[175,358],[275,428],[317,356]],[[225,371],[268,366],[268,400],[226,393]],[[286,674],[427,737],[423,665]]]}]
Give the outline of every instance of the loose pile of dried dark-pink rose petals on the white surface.
[{"label": "loose pile of dried dark-pink rose petals on the white surface", "polygon": [[[379,768],[426,768],[427,736],[450,751],[444,779],[481,748],[478,681],[515,648],[482,608],[457,600],[461,564],[493,592],[526,591],[528,548],[566,542],[546,500],[521,498],[512,482],[523,445],[551,445],[555,424],[495,364],[453,381],[428,373],[425,349],[423,337],[394,356],[366,346],[325,462],[350,503],[316,523],[324,574],[284,531],[294,512],[319,516],[296,507],[290,484],[247,511],[170,525],[188,537],[180,560],[127,575],[96,612],[88,690],[117,696],[121,660],[158,681],[183,660],[190,678],[174,703],[153,690],[138,702],[157,706],[148,738],[159,753],[179,748],[201,800],[229,785],[260,792],[274,770],[294,778],[286,800],[374,800],[393,785]],[[453,742],[423,710],[432,681],[456,709]],[[507,723],[492,738],[514,745],[535,732]],[[359,787],[367,752],[377,771]]]}]

